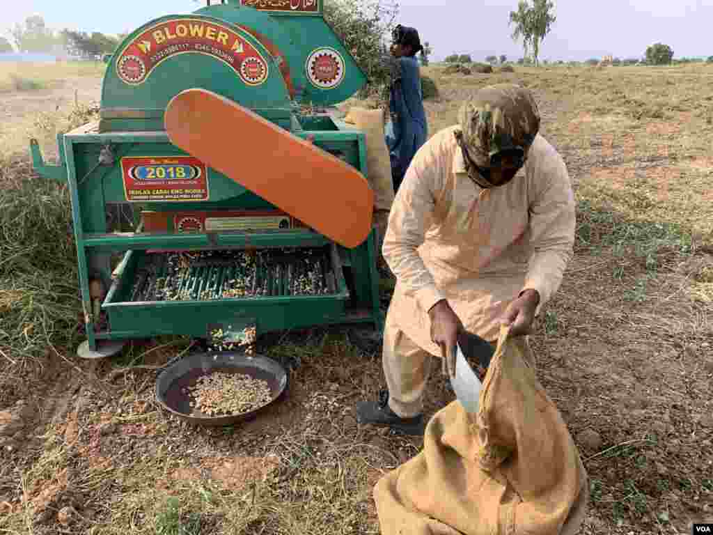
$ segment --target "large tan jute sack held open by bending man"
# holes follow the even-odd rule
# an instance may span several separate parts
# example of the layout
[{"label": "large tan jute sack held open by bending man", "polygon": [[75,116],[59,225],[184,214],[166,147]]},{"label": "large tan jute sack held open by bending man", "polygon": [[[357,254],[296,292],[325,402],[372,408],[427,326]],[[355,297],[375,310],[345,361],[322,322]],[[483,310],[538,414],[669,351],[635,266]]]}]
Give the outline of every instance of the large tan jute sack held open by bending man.
[{"label": "large tan jute sack held open by bending man", "polygon": [[458,401],[436,413],[424,449],[374,499],[381,535],[577,533],[588,475],[525,339],[503,327],[478,414]]}]

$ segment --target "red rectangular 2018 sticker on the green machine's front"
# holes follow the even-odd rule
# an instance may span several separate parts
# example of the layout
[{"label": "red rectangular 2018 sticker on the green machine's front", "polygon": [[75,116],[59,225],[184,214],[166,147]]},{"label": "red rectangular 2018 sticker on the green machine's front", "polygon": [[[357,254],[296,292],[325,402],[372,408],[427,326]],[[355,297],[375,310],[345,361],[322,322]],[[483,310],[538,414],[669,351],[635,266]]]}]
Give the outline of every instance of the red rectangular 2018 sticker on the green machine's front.
[{"label": "red rectangular 2018 sticker on the green machine's front", "polygon": [[207,167],[192,156],[121,158],[130,203],[208,200]]}]

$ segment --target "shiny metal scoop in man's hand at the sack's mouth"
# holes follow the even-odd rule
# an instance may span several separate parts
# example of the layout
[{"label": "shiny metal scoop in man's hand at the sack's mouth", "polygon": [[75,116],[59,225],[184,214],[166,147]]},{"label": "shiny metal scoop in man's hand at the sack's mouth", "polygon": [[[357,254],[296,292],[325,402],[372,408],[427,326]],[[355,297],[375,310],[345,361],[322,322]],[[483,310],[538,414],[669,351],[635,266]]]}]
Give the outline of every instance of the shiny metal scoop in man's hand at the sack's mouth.
[{"label": "shiny metal scoop in man's hand at the sack's mouth", "polygon": [[495,348],[488,344],[486,340],[469,332],[463,332],[458,335],[456,347],[453,347],[453,351],[456,352],[456,371],[450,376],[451,386],[463,408],[467,412],[476,413],[478,412],[481,387],[483,385],[481,384],[481,379],[478,379],[478,374],[473,372],[473,368],[468,364],[463,348],[465,348],[469,357],[478,360],[478,364],[484,368],[490,365],[491,359],[495,354]]}]

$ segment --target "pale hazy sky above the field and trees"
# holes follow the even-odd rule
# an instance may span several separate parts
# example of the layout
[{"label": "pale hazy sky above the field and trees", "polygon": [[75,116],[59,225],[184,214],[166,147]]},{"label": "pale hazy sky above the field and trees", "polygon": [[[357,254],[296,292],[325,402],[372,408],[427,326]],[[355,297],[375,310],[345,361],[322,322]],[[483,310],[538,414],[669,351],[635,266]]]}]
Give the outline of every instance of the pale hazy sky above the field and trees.
[{"label": "pale hazy sky above the field and trees", "polygon": [[[400,0],[399,22],[419,30],[434,61],[453,53],[473,60],[506,54],[520,58],[511,39],[508,14],[517,0]],[[54,29],[119,34],[168,14],[205,5],[193,0],[0,0],[0,31],[41,14]],[[677,58],[713,55],[708,42],[711,0],[555,0],[557,21],[541,46],[540,59],[584,61],[612,54],[641,58],[656,42],[671,46]]]}]

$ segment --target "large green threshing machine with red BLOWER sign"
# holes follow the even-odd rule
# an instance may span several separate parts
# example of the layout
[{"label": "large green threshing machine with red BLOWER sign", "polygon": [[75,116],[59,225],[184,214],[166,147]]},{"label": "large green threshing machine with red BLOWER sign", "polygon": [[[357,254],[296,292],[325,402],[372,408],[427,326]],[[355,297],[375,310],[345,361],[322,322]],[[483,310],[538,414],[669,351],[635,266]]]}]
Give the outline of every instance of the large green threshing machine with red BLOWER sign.
[{"label": "large green threshing machine with red BLOWER sign", "polygon": [[[36,171],[71,193],[87,337],[81,357],[107,357],[127,340],[158,335],[239,340],[246,328],[381,328],[371,213],[363,240],[338,243],[303,223],[299,210],[246,188],[241,173],[179,148],[164,121],[180,93],[210,91],[364,180],[364,134],[334,108],[364,86],[364,73],[324,21],[322,0],[207,4],[126,37],[108,58],[99,121],[58,136],[58,165],[43,162],[31,141]],[[238,164],[281,158],[281,143],[241,152],[249,129],[217,121],[215,130]],[[302,150],[287,176],[260,180],[267,190],[304,180],[304,198],[343,205],[349,225],[349,200],[320,199],[324,191],[312,188],[321,171],[300,167]]]}]

